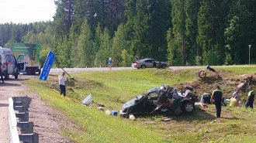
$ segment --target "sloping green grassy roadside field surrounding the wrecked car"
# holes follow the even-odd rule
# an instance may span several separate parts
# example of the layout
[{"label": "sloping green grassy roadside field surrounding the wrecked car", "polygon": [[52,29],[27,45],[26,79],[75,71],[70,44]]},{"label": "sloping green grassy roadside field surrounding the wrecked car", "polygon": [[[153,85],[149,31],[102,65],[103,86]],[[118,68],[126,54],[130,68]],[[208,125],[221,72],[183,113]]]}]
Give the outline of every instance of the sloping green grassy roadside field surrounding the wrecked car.
[{"label": "sloping green grassy roadside field surrounding the wrecked car", "polygon": [[[241,82],[242,74],[253,75],[256,68],[228,67],[216,69],[220,77],[200,80],[199,69],[194,70],[120,70],[71,74],[68,78],[67,97],[53,92],[50,83],[57,76],[48,77],[47,82],[37,79],[26,80],[33,93],[40,94],[67,117],[75,121],[80,131],[63,131],[68,138],[77,142],[254,142],[256,112],[250,109],[223,107],[220,121],[215,119],[215,107],[197,107],[192,114],[173,116],[171,121],[161,121],[162,116],[140,117],[130,121],[119,116],[108,116],[97,110],[97,104],[104,109],[119,111],[122,105],[137,94],[165,83],[173,87],[192,85],[197,94],[211,92],[216,83],[220,84],[223,94],[231,96],[235,86]],[[57,87],[55,87],[57,89]],[[179,89],[179,88],[178,88]],[[256,89],[255,89],[256,90]],[[92,93],[95,101],[90,109],[80,104],[80,94]],[[242,98],[246,92],[241,92]],[[154,124],[146,124],[154,121]]]}]

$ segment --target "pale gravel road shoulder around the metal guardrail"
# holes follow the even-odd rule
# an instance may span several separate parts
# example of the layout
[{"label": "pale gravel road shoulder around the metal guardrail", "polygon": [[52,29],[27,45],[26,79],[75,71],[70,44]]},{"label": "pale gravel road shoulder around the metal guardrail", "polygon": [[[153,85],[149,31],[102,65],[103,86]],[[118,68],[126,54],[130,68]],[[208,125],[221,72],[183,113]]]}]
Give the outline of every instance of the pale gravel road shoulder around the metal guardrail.
[{"label": "pale gravel road shoulder around the metal guardrail", "polygon": [[[18,80],[11,78],[0,83],[0,142],[10,142],[9,121],[8,121],[8,98],[28,96],[32,99],[29,104],[29,121],[34,123],[34,132],[39,134],[39,142],[74,142],[61,135],[61,128],[69,128],[76,125],[70,121],[61,111],[50,107],[39,95],[28,91],[22,80],[37,78],[33,76],[20,75]],[[75,130],[75,128],[74,128]]]}]

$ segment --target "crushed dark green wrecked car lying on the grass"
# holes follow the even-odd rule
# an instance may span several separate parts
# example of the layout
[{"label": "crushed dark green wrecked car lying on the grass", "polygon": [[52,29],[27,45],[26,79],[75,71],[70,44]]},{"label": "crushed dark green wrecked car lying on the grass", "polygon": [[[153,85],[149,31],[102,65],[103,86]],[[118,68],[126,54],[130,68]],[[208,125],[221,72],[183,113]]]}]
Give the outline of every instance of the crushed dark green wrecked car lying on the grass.
[{"label": "crushed dark green wrecked car lying on the grass", "polygon": [[192,93],[192,87],[185,87],[185,92],[162,85],[147,90],[146,94],[137,95],[123,104],[119,111],[121,117],[145,114],[182,114],[195,111],[197,96]]}]

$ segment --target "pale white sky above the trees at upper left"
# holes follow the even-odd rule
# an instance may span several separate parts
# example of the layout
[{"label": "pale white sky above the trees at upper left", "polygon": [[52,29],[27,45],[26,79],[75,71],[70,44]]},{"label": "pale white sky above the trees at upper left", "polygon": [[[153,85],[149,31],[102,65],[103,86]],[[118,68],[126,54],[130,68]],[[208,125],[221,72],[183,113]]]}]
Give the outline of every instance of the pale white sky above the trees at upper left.
[{"label": "pale white sky above the trees at upper left", "polygon": [[54,0],[0,0],[0,23],[53,21]]}]

